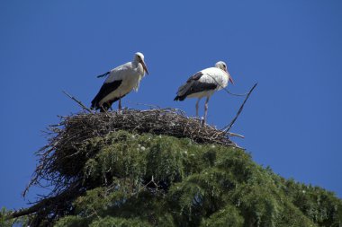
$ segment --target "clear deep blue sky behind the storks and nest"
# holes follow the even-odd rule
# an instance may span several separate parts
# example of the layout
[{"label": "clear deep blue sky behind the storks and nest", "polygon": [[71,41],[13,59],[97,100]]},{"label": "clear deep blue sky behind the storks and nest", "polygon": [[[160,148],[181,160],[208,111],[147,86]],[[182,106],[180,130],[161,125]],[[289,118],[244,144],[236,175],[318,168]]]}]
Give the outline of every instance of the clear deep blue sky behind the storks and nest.
[{"label": "clear deep blue sky behind the storks and nest", "polygon": [[[193,116],[195,100],[173,101],[178,86],[223,60],[231,92],[259,83],[232,128],[246,138],[234,141],[281,176],[342,196],[341,1],[118,2],[0,2],[0,206],[41,192],[21,197],[46,144],[41,130],[79,110],[61,91],[90,104],[103,83],[95,76],[137,51],[150,74],[124,106]],[[209,123],[228,124],[241,101],[214,94]]]}]

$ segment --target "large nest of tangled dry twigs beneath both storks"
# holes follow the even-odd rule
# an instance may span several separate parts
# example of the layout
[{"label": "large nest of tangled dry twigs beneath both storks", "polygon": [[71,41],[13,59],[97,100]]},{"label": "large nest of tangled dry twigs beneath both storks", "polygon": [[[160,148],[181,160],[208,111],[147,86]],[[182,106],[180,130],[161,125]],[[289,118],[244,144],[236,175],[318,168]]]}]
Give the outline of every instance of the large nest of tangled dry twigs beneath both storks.
[{"label": "large nest of tangled dry twigs beneath both storks", "polygon": [[198,144],[237,146],[229,140],[229,132],[202,124],[198,118],[188,118],[179,109],[80,112],[60,118],[58,125],[48,128],[49,144],[40,149],[39,164],[28,186],[40,185],[40,180],[46,179],[54,188],[54,195],[63,191],[66,185],[72,185],[86,160],[94,155],[82,146],[94,137],[111,132],[126,130],[137,134],[172,135],[190,138]]}]

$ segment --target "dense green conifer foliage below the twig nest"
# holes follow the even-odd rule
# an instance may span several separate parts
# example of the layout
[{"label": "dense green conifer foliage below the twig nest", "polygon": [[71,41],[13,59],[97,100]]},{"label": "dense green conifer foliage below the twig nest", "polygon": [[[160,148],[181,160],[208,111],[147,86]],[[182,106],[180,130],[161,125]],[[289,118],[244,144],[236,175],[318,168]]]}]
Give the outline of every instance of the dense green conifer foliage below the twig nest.
[{"label": "dense green conifer foliage below the twig nest", "polygon": [[84,196],[56,226],[340,226],[332,193],[285,180],[248,153],[125,131],[77,148]]}]

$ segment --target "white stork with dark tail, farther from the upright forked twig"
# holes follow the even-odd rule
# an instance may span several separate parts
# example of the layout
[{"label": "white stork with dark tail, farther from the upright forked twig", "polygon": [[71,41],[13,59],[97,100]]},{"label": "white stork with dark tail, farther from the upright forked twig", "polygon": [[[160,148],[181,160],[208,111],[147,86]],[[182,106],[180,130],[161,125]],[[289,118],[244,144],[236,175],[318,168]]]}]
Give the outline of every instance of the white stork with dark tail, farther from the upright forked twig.
[{"label": "white stork with dark tail, farther from the upright forked twig", "polygon": [[117,66],[111,71],[97,77],[109,74],[104,81],[100,91],[92,100],[92,109],[100,109],[101,112],[112,107],[112,103],[119,100],[121,109],[121,98],[133,89],[138,92],[139,82],[148,74],[148,68],[144,61],[144,55],[137,52],[132,62]]}]

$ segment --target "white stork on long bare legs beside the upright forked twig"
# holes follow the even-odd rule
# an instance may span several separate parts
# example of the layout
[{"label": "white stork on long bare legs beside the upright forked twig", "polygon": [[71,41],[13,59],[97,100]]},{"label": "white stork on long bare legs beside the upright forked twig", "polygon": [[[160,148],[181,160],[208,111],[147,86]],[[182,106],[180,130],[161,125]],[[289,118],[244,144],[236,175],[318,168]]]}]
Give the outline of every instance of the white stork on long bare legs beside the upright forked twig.
[{"label": "white stork on long bare legs beside the upright forked twig", "polygon": [[219,91],[234,83],[227,65],[220,61],[215,67],[210,67],[193,74],[182,86],[179,87],[175,100],[185,100],[185,98],[198,98],[196,102],[196,117],[198,118],[198,104],[203,97],[207,97],[204,105],[204,122],[206,122],[208,112],[208,101],[215,91]]}]

